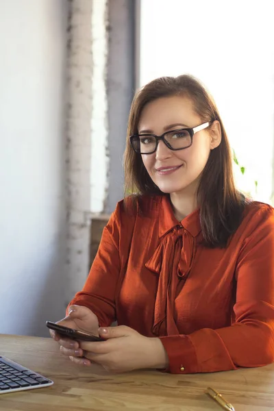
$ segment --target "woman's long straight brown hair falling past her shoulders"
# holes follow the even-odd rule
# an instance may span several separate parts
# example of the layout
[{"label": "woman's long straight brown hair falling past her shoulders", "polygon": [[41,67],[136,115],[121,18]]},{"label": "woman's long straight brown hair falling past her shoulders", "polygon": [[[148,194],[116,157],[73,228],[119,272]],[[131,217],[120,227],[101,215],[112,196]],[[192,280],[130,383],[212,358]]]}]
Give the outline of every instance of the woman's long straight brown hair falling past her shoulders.
[{"label": "woman's long straight brown hair falling past her shoulders", "polygon": [[[218,120],[221,125],[221,144],[210,152],[199,182],[197,201],[200,206],[201,230],[205,245],[225,247],[229,237],[240,225],[246,200],[234,184],[232,153],[219,111],[206,88],[195,77],[160,77],[136,93],[127,127],[124,157],[125,195],[134,192],[137,199],[138,195],[144,194],[164,195],[149,177],[141,155],[132,149],[129,136],[138,133],[140,114],[147,103],[173,95],[190,98],[201,121],[211,123]],[[132,201],[130,203],[132,204]]]}]

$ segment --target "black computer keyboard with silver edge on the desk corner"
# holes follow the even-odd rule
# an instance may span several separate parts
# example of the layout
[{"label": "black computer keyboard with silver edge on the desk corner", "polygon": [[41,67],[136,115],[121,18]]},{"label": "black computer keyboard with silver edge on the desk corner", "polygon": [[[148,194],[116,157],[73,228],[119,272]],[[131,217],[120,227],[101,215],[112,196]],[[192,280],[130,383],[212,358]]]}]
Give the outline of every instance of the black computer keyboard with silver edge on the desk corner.
[{"label": "black computer keyboard with silver edge on the desk corner", "polygon": [[0,356],[0,394],[51,386],[53,381]]}]

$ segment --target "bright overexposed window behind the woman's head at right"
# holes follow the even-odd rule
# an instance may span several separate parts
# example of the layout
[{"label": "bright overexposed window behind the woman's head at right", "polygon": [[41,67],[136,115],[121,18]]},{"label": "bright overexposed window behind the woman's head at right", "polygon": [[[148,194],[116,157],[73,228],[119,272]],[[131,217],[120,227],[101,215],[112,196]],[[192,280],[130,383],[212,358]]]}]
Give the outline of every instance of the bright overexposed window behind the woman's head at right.
[{"label": "bright overexposed window behind the woman's head at right", "polygon": [[265,202],[273,179],[273,38],[272,0],[141,0],[140,86],[162,75],[198,77],[244,167],[242,174],[235,166],[238,187]]}]

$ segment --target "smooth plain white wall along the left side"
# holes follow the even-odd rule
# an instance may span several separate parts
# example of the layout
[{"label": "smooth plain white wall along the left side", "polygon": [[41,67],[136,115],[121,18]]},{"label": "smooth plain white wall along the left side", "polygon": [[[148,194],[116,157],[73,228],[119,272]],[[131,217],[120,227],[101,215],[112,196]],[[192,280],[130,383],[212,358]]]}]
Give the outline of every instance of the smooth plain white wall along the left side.
[{"label": "smooth plain white wall along the left side", "polygon": [[64,314],[66,21],[66,0],[0,2],[0,334]]}]

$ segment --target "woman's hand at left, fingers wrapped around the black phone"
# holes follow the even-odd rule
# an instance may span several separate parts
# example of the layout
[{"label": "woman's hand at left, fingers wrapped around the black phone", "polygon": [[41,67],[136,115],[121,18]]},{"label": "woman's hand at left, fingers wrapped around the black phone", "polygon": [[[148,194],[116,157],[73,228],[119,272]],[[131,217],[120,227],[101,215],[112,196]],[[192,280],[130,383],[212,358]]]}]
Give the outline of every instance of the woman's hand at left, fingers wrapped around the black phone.
[{"label": "woman's hand at left, fingers wrapped around the black phone", "polygon": [[[97,316],[87,307],[84,306],[71,306],[69,308],[69,315],[64,319],[57,322],[57,324],[64,325],[64,327],[78,329],[80,331],[90,332],[91,334],[98,334],[98,319]],[[65,338],[58,334],[58,332],[49,330],[49,334],[53,340],[58,341],[60,344],[60,351],[64,356],[69,357],[82,357],[83,350],[79,348],[79,341],[72,340],[71,338]],[[84,365],[90,365],[90,361],[83,358]]]}]

